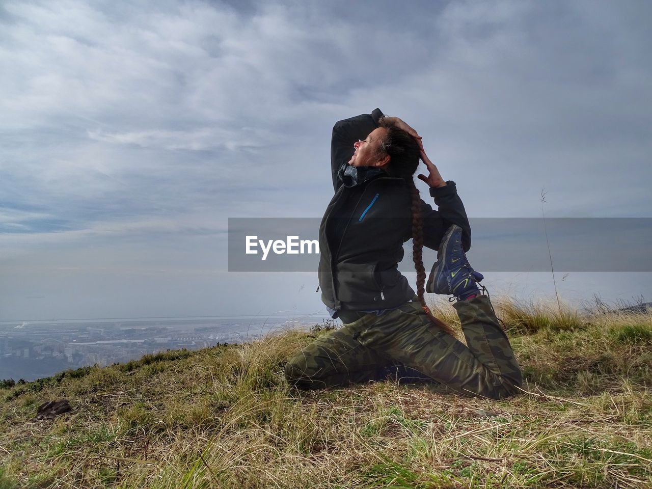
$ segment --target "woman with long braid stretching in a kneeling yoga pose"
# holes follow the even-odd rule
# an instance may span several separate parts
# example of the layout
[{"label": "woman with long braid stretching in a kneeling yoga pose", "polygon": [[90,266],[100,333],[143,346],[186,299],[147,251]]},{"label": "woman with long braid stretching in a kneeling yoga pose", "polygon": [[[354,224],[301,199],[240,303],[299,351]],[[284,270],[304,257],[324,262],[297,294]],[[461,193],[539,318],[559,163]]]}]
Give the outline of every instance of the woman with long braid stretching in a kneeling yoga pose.
[{"label": "woman with long braid stretching in a kneeling yoga pose", "polygon": [[[364,139],[363,139],[364,138]],[[434,211],[413,174],[421,158]],[[522,377],[509,340],[476,282],[465,251],[471,230],[455,183],[443,181],[421,137],[397,117],[371,114],[336,123],[331,142],[335,195],[319,228],[319,288],[344,327],[299,351],[286,378],[300,389],[378,379],[390,366],[421,372],[460,393],[505,398]],[[417,294],[398,271],[412,238]],[[424,301],[422,246],[437,250],[428,292],[454,295],[467,346]],[[318,289],[319,289],[318,288]],[[484,288],[483,288],[484,289]]]}]

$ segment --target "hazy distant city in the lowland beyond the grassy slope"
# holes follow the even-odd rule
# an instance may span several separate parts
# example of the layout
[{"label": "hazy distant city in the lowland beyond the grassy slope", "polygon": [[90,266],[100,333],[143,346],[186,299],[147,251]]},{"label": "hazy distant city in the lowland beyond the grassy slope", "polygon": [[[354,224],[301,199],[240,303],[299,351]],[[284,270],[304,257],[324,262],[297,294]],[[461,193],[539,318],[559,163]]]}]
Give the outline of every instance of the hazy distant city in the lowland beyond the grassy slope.
[{"label": "hazy distant city in the lowland beyond the grassy slope", "polygon": [[168,349],[241,343],[322,320],[315,316],[231,316],[0,321],[0,380],[31,381],[70,368],[123,363]]}]

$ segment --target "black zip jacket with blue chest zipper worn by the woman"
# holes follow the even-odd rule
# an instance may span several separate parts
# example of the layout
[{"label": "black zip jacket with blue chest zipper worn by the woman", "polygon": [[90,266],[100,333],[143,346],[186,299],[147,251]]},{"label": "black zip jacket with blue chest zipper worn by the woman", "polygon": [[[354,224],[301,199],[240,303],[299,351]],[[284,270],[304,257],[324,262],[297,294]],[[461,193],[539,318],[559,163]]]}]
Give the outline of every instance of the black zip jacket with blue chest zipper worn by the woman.
[{"label": "black zip jacket with blue chest zipper worn by the woman", "polygon": [[[355,150],[353,143],[378,127],[383,113],[376,109],[339,121],[333,127],[331,171],[335,195],[319,226],[319,286],[321,300],[334,310],[376,310],[393,308],[414,295],[408,280],[398,271],[403,243],[412,237],[411,196],[402,178],[376,177],[355,187],[346,187],[337,173]],[[431,188],[439,211],[421,200],[424,246],[437,250],[451,224],[464,230],[462,244],[467,251],[471,230],[455,183]],[[333,233],[333,216],[346,216],[338,239]],[[333,243],[333,241],[340,241]]]}]

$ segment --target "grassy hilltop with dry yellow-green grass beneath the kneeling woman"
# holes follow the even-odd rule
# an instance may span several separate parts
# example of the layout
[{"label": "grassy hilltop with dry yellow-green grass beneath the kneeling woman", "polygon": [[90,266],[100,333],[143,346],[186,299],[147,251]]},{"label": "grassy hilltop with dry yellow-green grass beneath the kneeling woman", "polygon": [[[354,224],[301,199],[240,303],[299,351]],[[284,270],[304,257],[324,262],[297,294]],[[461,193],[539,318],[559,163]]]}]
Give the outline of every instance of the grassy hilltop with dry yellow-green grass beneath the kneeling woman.
[{"label": "grassy hilltop with dry yellow-green grass beneath the kneeling woman", "polygon": [[[284,360],[319,327],[146,355],[0,389],[0,489],[652,487],[652,317],[494,305],[522,396],[297,392]],[[74,411],[34,421],[60,398]]]}]

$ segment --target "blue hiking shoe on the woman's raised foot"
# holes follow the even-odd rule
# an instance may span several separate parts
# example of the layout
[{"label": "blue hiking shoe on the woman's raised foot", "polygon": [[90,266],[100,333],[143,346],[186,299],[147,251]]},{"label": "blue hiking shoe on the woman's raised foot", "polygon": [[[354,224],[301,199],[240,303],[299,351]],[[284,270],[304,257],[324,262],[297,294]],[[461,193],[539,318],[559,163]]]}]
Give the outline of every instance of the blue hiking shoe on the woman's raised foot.
[{"label": "blue hiking shoe on the woman's raised foot", "polygon": [[426,292],[454,295],[458,301],[463,301],[480,293],[476,282],[483,278],[481,273],[469,265],[462,249],[462,228],[453,224],[437,250],[437,261],[428,276]]}]

